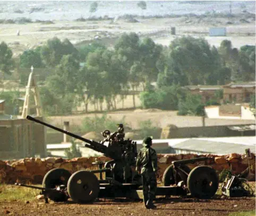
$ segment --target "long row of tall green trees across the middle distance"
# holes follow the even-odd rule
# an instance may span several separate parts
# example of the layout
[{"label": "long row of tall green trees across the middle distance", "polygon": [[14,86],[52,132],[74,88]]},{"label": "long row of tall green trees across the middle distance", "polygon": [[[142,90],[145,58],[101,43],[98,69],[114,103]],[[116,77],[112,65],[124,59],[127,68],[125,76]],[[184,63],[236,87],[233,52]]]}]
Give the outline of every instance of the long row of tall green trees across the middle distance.
[{"label": "long row of tall green trees across the middle distance", "polygon": [[[2,42],[0,69],[8,73],[12,62],[12,51]],[[54,68],[40,87],[43,105],[51,114],[70,113],[81,102],[86,112],[89,103],[102,110],[104,101],[108,110],[116,109],[116,96],[124,100],[141,84],[144,107],[155,101],[161,109],[176,110],[185,98],[182,86],[255,80],[255,46],[238,50],[224,40],[217,49],[204,39],[181,37],[163,47],[150,38],[124,33],[114,48],[91,43],[77,49],[68,39],[53,38],[45,46],[22,53],[20,67],[31,65]],[[150,86],[153,82],[157,88]]]}]

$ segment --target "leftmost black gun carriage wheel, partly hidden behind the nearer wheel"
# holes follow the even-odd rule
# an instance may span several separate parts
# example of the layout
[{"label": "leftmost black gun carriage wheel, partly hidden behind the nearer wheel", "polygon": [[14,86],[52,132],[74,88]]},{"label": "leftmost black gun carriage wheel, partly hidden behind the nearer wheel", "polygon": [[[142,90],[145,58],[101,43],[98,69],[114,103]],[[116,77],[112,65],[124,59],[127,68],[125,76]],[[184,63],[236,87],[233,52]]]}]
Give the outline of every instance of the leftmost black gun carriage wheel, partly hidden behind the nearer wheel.
[{"label": "leftmost black gun carriage wheel, partly hidden behind the nearer wheel", "polygon": [[[48,173],[44,176],[44,179],[42,179],[42,187],[45,188],[56,188],[58,185],[67,185],[67,181],[69,181],[69,178],[71,176],[71,173],[67,171],[66,169],[62,168],[55,168],[49,170]],[[64,194],[61,193],[49,193],[48,198],[50,200],[53,200],[54,202],[65,202],[69,197],[67,197]]]}]

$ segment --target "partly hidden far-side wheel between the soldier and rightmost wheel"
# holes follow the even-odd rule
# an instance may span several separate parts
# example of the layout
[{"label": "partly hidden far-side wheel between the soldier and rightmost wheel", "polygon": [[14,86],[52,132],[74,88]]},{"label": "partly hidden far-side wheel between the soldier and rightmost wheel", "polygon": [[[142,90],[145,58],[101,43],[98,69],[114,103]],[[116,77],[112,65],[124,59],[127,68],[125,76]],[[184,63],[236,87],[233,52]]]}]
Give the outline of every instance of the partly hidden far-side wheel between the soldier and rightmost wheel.
[{"label": "partly hidden far-side wheel between the soldier and rightmost wheel", "polygon": [[[191,169],[186,166],[186,165],[182,165],[181,168],[186,172],[186,173],[190,173]],[[183,172],[181,172],[180,170],[178,171],[178,177],[177,177],[177,182],[183,181],[184,184],[187,183],[187,175],[184,174]],[[175,184],[175,169],[173,165],[168,166],[165,169],[165,172],[163,174],[163,178],[162,178],[162,182],[164,186],[169,186],[169,185],[174,185]]]}]

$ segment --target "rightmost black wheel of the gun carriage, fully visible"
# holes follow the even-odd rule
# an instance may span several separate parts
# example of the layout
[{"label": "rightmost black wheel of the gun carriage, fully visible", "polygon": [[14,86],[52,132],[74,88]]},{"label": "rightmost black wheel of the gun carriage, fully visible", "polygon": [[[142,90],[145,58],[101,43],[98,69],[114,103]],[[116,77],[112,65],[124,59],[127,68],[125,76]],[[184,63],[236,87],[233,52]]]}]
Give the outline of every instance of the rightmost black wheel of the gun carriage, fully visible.
[{"label": "rightmost black wheel of the gun carriage, fully visible", "polygon": [[219,177],[215,169],[198,166],[191,170],[187,177],[187,187],[191,196],[198,199],[210,199],[218,190]]}]

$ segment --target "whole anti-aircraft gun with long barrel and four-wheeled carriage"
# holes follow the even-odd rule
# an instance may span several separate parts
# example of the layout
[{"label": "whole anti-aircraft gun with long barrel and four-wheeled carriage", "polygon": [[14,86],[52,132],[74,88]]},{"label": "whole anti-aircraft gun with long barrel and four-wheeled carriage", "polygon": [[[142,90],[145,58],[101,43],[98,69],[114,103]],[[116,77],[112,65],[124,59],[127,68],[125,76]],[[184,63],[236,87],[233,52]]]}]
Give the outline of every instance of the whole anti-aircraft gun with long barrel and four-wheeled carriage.
[{"label": "whole anti-aircraft gun with long barrel and four-wheeled carriage", "polygon": [[[142,179],[141,175],[135,171],[136,142],[124,139],[123,130],[118,130],[115,133],[105,130],[102,133],[105,139],[96,142],[54,127],[29,115],[27,119],[82,140],[85,142],[84,147],[100,152],[111,160],[93,163],[98,165],[96,170],[79,170],[73,174],[63,168],[49,170],[44,176],[42,187],[15,185],[41,190],[46,202],[48,202],[48,198],[55,202],[65,202],[71,198],[76,203],[92,202],[97,197],[142,199]],[[219,183],[215,170],[208,166],[198,166],[191,170],[187,166],[187,164],[211,159],[205,157],[173,161],[172,165],[164,172],[163,186],[157,187],[156,196],[182,196],[187,193],[199,199],[209,199],[214,196]],[[98,177],[95,174],[98,174]]]}]

